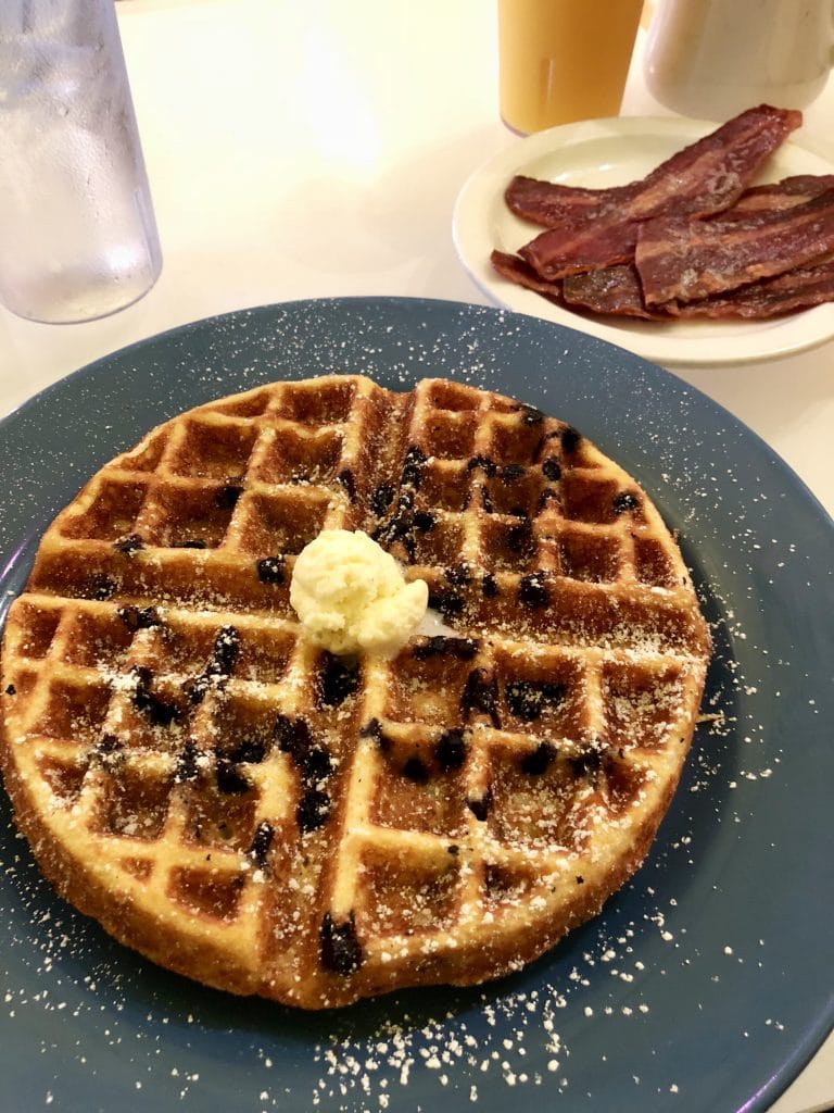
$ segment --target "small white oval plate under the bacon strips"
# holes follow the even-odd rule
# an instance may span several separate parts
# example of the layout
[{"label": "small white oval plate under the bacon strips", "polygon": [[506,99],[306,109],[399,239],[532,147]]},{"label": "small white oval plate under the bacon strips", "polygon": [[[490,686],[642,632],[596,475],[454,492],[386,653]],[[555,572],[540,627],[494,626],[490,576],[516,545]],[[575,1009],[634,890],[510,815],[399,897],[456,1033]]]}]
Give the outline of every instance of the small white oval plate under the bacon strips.
[{"label": "small white oval plate under the bacon strips", "polygon": [[[715,128],[715,124],[676,117],[616,117],[568,124],[520,139],[477,169],[458,195],[453,236],[460,260],[498,305],[578,328],[666,367],[762,362],[825,343],[834,336],[834,303],[770,321],[665,324],[604,318],[554,305],[493,269],[489,254],[494,248],[517,252],[540,230],[516,217],[504,201],[504,190],[514,175],[592,188],[625,185],[645,177]],[[822,156],[788,141],[771,156],[756,180],[833,173],[834,166]]]}]

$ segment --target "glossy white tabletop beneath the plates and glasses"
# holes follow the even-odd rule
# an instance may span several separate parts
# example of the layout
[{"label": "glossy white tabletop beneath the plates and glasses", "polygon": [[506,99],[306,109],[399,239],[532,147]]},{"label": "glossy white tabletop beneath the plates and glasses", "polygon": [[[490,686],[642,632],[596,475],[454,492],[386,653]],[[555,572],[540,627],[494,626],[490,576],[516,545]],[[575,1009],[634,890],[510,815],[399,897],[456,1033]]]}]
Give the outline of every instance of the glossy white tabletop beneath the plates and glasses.
[{"label": "glossy white tabletop beneath the plates and glasses", "polygon": [[[91,359],[199,317],[305,297],[485,303],[455,197],[517,138],[497,114],[492,0],[122,0],[165,265],[141,302],[50,326],[0,309],[0,415]],[[671,115],[639,51],[623,111]],[[834,161],[834,81],[804,141]],[[834,345],[674,373],[755,430],[834,510]],[[832,972],[821,972],[832,977]],[[772,1113],[834,1105],[834,1036]]]}]

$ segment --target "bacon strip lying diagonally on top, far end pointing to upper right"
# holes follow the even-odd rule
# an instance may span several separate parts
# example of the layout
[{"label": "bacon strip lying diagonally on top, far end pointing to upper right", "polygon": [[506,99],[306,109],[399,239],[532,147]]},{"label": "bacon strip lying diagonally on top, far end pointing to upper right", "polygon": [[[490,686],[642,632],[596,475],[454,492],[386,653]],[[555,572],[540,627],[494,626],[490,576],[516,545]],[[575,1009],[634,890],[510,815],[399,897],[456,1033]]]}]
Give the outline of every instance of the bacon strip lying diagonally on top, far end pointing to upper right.
[{"label": "bacon strip lying diagonally on top, far end pointing to upper right", "polygon": [[[625,263],[634,254],[642,221],[671,211],[708,216],[727,208],[801,122],[798,111],[762,105],[684,148],[639,183],[578,193],[553,187],[548,219],[554,223],[519,254],[546,279]],[[513,196],[513,183],[507,194]],[[599,195],[596,205],[592,194]],[[530,211],[528,207],[519,215]]]}]

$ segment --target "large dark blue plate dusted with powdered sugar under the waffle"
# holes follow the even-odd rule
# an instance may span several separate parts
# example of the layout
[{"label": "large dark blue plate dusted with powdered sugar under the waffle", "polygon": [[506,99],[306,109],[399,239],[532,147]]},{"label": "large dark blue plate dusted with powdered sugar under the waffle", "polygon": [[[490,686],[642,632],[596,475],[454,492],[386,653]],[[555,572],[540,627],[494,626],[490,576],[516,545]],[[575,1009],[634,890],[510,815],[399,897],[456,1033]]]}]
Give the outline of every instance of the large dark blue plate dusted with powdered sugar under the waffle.
[{"label": "large dark blue plate dusted with powdered sugar under the waffle", "polygon": [[2,825],[6,1113],[765,1110],[832,1024],[832,524],[748,430],[636,356],[445,302],[300,302],[108,356],[2,423],[3,601],[37,539],[153,424],[281,377],[446,375],[565,418],[681,533],[713,626],[706,711],[655,847],[523,973],[332,1014],[158,969],[57,900]]}]

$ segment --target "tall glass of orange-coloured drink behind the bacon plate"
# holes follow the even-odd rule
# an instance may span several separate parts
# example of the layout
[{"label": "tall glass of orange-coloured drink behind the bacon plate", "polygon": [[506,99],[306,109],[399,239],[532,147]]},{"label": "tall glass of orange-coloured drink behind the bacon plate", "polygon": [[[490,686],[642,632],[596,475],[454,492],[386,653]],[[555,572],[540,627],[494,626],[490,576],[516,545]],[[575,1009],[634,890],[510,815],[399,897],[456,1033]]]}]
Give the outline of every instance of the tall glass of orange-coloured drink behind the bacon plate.
[{"label": "tall glass of orange-coloured drink behind the bacon plate", "polygon": [[523,135],[616,116],[643,0],[498,0],[499,99]]}]

